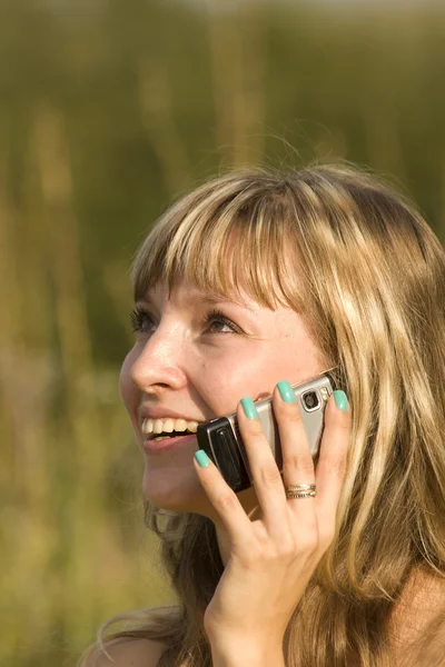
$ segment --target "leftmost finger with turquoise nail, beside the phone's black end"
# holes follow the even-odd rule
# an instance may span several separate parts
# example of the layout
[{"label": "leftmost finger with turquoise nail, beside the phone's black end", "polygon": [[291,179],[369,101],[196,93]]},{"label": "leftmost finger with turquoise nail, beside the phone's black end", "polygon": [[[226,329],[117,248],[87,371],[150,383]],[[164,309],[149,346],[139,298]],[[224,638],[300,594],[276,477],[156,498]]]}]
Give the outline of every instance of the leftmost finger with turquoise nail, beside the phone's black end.
[{"label": "leftmost finger with turquoise nail, beside the phone's black end", "polygon": [[194,466],[207,497],[228,532],[230,541],[240,549],[246,545],[246,537],[251,531],[251,522],[237,495],[202,449],[195,452]]}]

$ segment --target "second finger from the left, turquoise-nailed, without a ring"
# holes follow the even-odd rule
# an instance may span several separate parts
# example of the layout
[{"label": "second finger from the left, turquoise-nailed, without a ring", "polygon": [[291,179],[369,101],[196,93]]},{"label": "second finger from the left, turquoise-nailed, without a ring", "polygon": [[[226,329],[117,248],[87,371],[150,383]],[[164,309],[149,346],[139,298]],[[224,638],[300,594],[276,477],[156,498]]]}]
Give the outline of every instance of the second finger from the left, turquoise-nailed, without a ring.
[{"label": "second finger from the left, turquoise-nailed, without a ring", "polygon": [[245,397],[239,401],[237,420],[265,524],[274,522],[276,526],[286,511],[286,494],[274,454],[250,398]]}]

